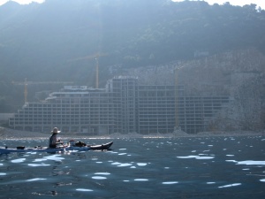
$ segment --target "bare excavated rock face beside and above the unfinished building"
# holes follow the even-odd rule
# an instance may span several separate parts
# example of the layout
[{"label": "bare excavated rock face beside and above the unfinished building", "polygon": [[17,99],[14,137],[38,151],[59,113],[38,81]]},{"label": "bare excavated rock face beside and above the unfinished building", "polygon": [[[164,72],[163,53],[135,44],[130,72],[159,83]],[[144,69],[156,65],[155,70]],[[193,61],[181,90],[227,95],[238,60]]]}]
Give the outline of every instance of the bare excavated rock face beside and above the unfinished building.
[{"label": "bare excavated rock face beside and above the unfinished building", "polygon": [[258,50],[234,50],[128,73],[138,76],[140,84],[177,82],[186,96],[231,96],[232,103],[211,121],[216,130],[265,128],[265,56]]}]

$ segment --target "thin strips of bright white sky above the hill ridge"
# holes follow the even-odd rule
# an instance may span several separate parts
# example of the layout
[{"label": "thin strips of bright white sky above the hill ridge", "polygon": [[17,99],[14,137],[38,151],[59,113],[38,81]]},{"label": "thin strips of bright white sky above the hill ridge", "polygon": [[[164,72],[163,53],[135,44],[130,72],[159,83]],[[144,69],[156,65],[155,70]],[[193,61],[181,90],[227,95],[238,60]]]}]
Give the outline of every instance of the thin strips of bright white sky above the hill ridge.
[{"label": "thin strips of bright white sky above the hill ridge", "polygon": [[[8,2],[9,0],[0,0],[0,5]],[[18,2],[19,4],[29,4],[31,2],[39,2],[42,3],[44,0],[14,0],[15,2]],[[143,0],[144,1],[144,0]],[[175,2],[182,2],[184,0],[173,0]],[[196,0],[195,0],[196,1]],[[233,5],[245,5],[245,4],[257,4],[258,6],[261,6],[261,8],[265,9],[265,1],[264,0],[205,0],[208,2],[208,4],[223,4],[225,2],[230,2],[230,4]]]}]

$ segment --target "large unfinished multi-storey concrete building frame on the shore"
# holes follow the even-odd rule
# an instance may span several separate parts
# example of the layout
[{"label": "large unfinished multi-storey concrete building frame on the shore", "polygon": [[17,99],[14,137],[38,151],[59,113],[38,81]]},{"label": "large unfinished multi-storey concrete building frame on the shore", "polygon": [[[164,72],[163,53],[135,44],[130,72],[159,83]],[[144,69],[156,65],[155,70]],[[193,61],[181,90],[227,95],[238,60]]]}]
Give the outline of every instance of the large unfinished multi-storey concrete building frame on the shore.
[{"label": "large unfinished multi-storey concrete building frame on the shore", "polygon": [[140,85],[135,77],[119,76],[106,88],[64,86],[42,102],[25,103],[9,120],[17,130],[64,133],[166,134],[181,127],[189,134],[206,129],[229,96],[186,96],[181,86]]}]

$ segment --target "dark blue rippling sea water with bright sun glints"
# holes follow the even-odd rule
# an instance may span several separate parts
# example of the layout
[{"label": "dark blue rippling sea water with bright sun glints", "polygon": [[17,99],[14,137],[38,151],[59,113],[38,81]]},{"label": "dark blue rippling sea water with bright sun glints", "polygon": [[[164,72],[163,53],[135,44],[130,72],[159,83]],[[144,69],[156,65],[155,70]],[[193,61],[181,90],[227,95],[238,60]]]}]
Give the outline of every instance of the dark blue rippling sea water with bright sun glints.
[{"label": "dark blue rippling sea water with bright sun glints", "polygon": [[0,198],[265,198],[264,136],[111,141],[109,151],[0,155]]}]

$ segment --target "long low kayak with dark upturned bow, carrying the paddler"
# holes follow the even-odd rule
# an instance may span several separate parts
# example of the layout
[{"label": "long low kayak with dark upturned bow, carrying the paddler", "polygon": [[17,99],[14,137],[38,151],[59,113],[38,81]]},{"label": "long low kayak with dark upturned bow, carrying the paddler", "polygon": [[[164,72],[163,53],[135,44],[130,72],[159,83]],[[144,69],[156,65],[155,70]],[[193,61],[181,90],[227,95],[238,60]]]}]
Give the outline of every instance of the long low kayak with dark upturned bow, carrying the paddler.
[{"label": "long low kayak with dark upturned bow, carrying the paddler", "polygon": [[34,148],[25,148],[25,147],[17,147],[17,148],[7,148],[1,147],[0,154],[7,154],[13,152],[48,152],[48,153],[55,153],[55,152],[64,152],[64,151],[87,151],[87,150],[107,150],[110,149],[110,146],[113,142],[108,142],[100,145],[86,145],[86,146],[75,146],[75,145],[66,145],[58,148],[48,148],[48,147],[34,147]]}]

